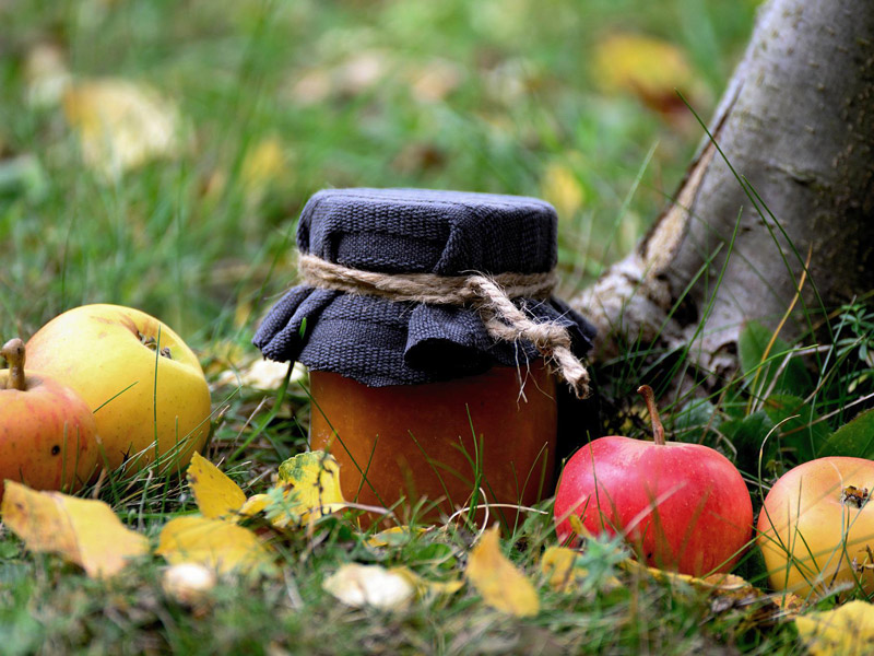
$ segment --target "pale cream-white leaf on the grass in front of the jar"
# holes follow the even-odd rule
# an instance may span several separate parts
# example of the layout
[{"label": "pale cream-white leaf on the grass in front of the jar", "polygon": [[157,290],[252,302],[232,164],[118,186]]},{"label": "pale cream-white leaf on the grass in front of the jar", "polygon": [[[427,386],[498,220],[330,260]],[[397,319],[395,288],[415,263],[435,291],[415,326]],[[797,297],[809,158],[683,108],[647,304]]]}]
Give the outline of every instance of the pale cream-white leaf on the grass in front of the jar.
[{"label": "pale cream-white leaf on the grass in front of the jar", "polygon": [[346,606],[373,606],[382,610],[406,607],[416,593],[404,574],[381,565],[357,563],[342,565],[324,579],[322,588]]}]

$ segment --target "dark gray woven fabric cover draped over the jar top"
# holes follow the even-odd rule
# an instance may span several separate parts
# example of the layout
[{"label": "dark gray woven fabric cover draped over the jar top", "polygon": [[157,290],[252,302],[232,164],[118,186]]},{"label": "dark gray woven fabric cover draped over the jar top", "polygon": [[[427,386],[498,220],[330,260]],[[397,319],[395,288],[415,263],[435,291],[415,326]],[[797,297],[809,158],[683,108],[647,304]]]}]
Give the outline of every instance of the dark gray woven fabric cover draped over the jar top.
[{"label": "dark gray woven fabric cover draped over the jar top", "polygon": [[[369,271],[535,273],[556,262],[555,210],[534,198],[423,189],[319,191],[300,215],[302,253]],[[520,300],[533,317],[558,320],[576,354],[593,328],[565,303]],[[410,385],[515,366],[539,356],[529,342],[496,342],[470,307],[397,303],[298,285],[262,321],[264,356],[298,360],[371,387]]]}]

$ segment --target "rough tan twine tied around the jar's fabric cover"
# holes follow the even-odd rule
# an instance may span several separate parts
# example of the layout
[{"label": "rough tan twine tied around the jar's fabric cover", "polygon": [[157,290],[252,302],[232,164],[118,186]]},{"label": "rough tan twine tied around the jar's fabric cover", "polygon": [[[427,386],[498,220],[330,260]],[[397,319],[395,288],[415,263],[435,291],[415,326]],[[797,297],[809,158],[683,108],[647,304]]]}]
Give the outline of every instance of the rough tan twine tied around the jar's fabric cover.
[{"label": "rough tan twine tied around the jar's fabric cover", "polygon": [[548,297],[556,284],[553,272],[494,276],[380,273],[351,269],[310,254],[300,255],[298,268],[303,280],[315,288],[430,305],[470,304],[480,313],[493,339],[530,341],[577,397],[590,395],[589,372],[571,352],[567,328],[557,321],[534,321],[512,302],[512,298]]}]

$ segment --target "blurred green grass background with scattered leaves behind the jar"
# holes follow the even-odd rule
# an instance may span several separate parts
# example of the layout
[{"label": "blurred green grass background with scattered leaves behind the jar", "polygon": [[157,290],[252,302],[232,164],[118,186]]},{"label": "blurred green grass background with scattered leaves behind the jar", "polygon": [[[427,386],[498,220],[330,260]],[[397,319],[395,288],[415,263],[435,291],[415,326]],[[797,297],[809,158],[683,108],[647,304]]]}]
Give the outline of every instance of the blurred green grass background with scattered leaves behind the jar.
[{"label": "blurred green grass background with scattered leaves behind the jar", "polygon": [[538,196],[562,293],[668,202],[752,0],[0,0],[0,336],[87,302],[204,349],[323,187]]}]

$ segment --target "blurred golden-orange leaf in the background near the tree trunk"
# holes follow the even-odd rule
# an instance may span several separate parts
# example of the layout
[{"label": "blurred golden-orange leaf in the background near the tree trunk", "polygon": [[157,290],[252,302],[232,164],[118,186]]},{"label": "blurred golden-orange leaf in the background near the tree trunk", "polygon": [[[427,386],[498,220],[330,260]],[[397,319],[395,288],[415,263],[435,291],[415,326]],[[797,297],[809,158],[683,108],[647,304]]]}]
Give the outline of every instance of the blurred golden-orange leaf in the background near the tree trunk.
[{"label": "blurred golden-orange leaf in the background near the tree trunk", "polygon": [[681,104],[675,90],[688,95],[692,69],[683,52],[668,42],[635,34],[614,34],[594,51],[593,74],[609,93],[625,91],[662,112]]}]

